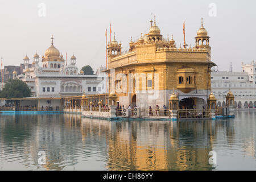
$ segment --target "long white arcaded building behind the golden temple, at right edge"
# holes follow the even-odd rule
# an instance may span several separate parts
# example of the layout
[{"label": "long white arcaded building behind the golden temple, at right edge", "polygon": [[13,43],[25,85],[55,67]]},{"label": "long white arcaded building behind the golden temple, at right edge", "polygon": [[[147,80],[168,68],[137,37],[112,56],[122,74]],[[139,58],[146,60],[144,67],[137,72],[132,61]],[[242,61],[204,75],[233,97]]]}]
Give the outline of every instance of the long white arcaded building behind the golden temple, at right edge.
[{"label": "long white arcaded building behind the golden temple, at right edge", "polygon": [[212,72],[212,90],[218,106],[225,105],[229,88],[238,108],[256,107],[256,62],[242,63],[242,72]]}]

